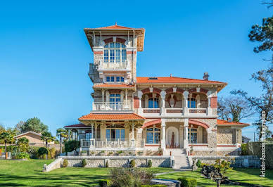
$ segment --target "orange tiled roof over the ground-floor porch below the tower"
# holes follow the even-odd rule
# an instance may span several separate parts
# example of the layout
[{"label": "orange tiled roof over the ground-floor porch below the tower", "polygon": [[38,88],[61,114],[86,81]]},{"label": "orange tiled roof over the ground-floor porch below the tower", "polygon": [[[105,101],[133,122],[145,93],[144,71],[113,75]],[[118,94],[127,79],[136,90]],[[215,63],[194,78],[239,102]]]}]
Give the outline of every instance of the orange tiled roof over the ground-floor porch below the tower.
[{"label": "orange tiled roof over the ground-floor porch below the tower", "polygon": [[136,115],[135,113],[90,113],[83,115],[79,120],[145,120],[144,117]]}]

